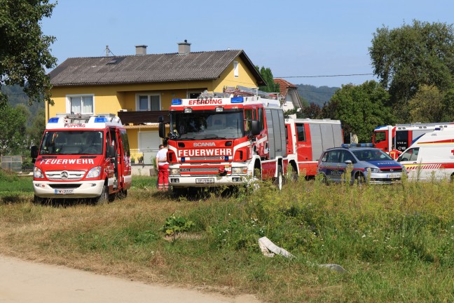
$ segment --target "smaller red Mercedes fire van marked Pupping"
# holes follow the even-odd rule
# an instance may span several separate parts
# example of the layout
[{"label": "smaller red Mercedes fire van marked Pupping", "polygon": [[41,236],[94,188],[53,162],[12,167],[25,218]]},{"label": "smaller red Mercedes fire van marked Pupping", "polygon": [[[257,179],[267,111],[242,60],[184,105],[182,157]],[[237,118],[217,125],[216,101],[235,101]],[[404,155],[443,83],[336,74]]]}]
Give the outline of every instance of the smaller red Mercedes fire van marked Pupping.
[{"label": "smaller red Mercedes fire van marked Pupping", "polygon": [[34,200],[124,197],[131,187],[130,150],[118,116],[62,114],[50,118],[41,147],[32,147]]}]

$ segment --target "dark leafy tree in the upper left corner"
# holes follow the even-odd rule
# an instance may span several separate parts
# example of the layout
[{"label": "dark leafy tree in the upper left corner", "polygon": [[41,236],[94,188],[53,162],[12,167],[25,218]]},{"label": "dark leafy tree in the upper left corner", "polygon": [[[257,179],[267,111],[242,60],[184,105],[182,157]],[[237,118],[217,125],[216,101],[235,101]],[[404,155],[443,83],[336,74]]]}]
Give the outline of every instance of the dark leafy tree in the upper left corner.
[{"label": "dark leafy tree in the upper left corner", "polygon": [[[0,88],[22,86],[29,104],[52,103],[45,68],[53,68],[57,62],[49,51],[55,37],[43,35],[40,21],[50,17],[55,5],[48,0],[0,0]],[[7,100],[0,91],[0,108]]]}]

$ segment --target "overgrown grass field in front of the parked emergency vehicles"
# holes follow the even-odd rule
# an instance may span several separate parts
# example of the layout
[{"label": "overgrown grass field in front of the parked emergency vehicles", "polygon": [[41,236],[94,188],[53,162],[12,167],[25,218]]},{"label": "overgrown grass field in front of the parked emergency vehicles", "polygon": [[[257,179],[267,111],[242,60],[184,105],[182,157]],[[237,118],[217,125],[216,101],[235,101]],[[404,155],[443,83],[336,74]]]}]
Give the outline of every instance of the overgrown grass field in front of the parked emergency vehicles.
[{"label": "overgrown grass field in front of the parked emergency vehicles", "polygon": [[[454,301],[452,183],[300,180],[282,192],[265,183],[231,197],[174,199],[135,177],[114,203],[41,206],[32,180],[14,178],[0,175],[6,255],[264,302]],[[261,236],[295,257],[263,256]],[[327,263],[346,272],[317,266]]]}]

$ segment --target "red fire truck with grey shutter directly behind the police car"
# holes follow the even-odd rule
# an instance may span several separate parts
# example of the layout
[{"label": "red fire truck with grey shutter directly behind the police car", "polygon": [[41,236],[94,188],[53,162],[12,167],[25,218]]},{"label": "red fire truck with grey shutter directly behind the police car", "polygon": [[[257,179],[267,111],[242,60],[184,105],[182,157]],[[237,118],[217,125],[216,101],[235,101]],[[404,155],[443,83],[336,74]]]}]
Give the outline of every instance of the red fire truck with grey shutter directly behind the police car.
[{"label": "red fire truck with grey shutter directly behind the police car", "polygon": [[317,162],[325,149],[343,144],[341,121],[331,119],[285,119],[287,158],[293,178],[315,177]]}]

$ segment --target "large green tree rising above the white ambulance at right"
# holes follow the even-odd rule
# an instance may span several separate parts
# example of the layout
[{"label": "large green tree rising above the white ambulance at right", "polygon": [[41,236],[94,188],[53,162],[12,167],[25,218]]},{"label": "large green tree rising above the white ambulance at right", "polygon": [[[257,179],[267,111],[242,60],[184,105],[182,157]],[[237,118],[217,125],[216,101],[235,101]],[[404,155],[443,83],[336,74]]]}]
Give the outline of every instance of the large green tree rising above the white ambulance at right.
[{"label": "large green tree rising above the white ambulance at right", "polygon": [[408,121],[408,101],[420,86],[446,90],[453,82],[454,29],[446,23],[420,22],[373,34],[369,55],[373,72],[384,88],[400,121]]}]

